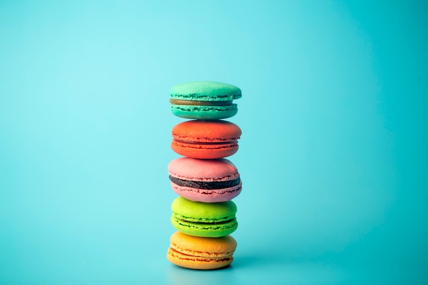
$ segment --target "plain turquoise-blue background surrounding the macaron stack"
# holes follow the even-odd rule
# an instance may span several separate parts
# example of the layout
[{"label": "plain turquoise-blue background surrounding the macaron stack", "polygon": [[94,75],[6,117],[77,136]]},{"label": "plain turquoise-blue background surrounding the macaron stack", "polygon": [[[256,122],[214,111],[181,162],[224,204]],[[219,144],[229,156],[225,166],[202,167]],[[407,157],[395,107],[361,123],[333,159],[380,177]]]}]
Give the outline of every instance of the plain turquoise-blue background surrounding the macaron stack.
[{"label": "plain turquoise-blue background surrounding the macaron stack", "polygon": [[[0,1],[0,284],[427,284],[425,1]],[[241,87],[235,262],[170,264],[168,91]]]}]

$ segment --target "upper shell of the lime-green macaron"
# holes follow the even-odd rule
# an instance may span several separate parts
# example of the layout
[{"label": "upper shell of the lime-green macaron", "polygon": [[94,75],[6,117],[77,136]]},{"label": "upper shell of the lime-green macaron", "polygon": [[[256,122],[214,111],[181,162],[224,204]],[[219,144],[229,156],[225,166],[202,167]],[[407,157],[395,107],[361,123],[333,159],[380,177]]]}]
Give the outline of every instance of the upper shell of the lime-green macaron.
[{"label": "upper shell of the lime-green macaron", "polygon": [[179,196],[172,202],[171,210],[176,219],[195,223],[220,223],[235,219],[237,206],[232,201],[203,203]]}]

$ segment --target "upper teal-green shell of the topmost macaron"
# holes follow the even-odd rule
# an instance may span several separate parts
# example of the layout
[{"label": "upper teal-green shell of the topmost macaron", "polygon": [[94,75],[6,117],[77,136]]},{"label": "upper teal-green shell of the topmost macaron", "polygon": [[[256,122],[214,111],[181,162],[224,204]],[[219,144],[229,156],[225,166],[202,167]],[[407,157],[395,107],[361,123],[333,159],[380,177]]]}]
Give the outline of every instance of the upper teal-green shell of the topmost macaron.
[{"label": "upper teal-green shell of the topmost macaron", "polygon": [[176,100],[229,101],[241,96],[239,87],[215,81],[180,83],[170,89],[170,98]]}]

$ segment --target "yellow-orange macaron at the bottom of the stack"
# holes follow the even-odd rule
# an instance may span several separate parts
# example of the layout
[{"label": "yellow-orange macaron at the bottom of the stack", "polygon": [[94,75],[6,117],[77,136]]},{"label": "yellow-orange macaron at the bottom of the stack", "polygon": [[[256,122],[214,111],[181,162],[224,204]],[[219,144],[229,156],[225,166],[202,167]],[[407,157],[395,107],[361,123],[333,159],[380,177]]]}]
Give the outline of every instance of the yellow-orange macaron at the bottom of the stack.
[{"label": "yellow-orange macaron at the bottom of the stack", "polygon": [[174,232],[167,258],[170,262],[189,269],[219,269],[233,261],[237,242],[232,236],[202,238]]}]

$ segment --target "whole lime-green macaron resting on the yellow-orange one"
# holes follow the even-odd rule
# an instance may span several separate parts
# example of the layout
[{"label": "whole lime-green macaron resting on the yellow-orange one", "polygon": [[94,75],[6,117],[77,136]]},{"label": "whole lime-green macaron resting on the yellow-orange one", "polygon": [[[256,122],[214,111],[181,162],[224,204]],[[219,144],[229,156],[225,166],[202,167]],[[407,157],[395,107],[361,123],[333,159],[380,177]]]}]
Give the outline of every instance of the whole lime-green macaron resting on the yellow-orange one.
[{"label": "whole lime-green macaron resting on the yellow-orange one", "polygon": [[179,196],[172,202],[171,210],[172,226],[191,236],[227,236],[238,227],[237,206],[232,201],[203,203]]}]

